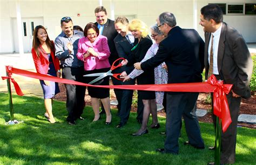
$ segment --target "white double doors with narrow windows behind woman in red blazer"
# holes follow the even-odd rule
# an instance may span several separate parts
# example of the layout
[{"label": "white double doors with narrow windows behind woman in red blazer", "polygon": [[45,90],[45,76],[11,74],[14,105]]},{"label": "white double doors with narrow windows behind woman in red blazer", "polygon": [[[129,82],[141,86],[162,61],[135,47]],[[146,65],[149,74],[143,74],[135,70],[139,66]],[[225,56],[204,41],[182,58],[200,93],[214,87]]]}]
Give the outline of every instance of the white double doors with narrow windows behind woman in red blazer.
[{"label": "white double doors with narrow windows behind woman in red blazer", "polygon": [[[44,25],[43,18],[22,18],[22,40],[24,52],[31,52],[33,32],[37,25]],[[12,31],[14,34],[14,51],[19,52],[17,19],[12,19]]]}]

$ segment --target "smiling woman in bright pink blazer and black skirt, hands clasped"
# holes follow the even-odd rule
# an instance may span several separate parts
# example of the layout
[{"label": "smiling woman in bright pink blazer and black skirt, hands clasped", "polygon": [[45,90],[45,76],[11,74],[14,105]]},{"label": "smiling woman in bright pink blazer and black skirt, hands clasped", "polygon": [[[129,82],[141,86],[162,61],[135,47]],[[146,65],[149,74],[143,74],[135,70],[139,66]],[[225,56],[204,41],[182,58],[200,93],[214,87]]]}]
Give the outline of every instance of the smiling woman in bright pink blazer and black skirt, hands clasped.
[{"label": "smiling woman in bright pink blazer and black skirt, hands clasped", "polygon": [[[109,46],[107,38],[99,35],[99,29],[93,23],[88,23],[84,28],[84,36],[79,39],[77,58],[84,61],[85,74],[107,72],[110,70]],[[85,83],[89,83],[97,77],[86,77]],[[97,85],[109,85],[109,76],[96,82]],[[99,99],[102,101],[106,111],[106,125],[111,124],[112,116],[110,113],[109,89],[88,87],[91,96],[91,104],[95,113],[93,121],[100,119]]]}]

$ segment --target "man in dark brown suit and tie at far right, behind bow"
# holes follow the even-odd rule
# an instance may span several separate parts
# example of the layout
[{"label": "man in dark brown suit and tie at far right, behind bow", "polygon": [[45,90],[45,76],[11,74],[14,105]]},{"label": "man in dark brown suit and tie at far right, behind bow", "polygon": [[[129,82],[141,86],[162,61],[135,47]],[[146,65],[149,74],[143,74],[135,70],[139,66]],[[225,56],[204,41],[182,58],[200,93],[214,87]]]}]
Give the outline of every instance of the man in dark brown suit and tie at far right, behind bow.
[{"label": "man in dark brown suit and tie at far right, behind bow", "polygon": [[[253,68],[252,58],[241,34],[223,22],[223,12],[218,5],[209,4],[201,9],[199,24],[205,31],[206,79],[214,74],[217,79],[224,80],[225,84],[233,84],[232,91],[226,95],[232,123],[226,132],[221,134],[220,149],[220,163],[232,164],[235,162],[241,97],[251,97],[249,85]],[[213,115],[214,123],[215,119]]]}]

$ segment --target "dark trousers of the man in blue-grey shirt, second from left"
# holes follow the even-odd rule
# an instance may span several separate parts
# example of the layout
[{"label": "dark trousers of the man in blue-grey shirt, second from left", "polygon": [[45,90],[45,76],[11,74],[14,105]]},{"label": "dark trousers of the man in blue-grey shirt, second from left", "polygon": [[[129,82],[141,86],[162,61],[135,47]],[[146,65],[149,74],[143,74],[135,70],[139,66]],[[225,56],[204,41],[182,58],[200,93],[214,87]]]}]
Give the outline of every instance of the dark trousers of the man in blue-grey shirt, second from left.
[{"label": "dark trousers of the man in blue-grey shirt, second from left", "polygon": [[[69,80],[83,82],[84,67],[64,67],[62,77]],[[85,86],[65,84],[66,87],[66,109],[68,111],[67,121],[79,118],[85,106]]]}]

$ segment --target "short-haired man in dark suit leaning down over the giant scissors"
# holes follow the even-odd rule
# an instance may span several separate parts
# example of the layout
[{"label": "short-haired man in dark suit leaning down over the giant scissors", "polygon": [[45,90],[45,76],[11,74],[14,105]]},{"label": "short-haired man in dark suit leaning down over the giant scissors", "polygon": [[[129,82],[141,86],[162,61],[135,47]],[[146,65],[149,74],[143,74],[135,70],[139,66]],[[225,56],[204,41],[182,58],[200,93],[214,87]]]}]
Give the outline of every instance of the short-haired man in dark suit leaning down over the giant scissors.
[{"label": "short-haired man in dark suit leaning down over the giant scissors", "polygon": [[[119,16],[114,21],[114,27],[116,28],[118,35],[114,38],[114,44],[116,45],[117,53],[119,57],[123,57],[125,59],[131,53],[131,49],[134,43],[134,37],[129,31],[129,21],[124,16]],[[130,74],[131,71],[134,69],[133,66],[123,66],[122,71],[125,71],[127,74]],[[125,81],[123,85],[134,85],[135,79],[130,81]],[[122,95],[122,106],[120,107],[120,122],[117,125],[117,128],[121,128],[125,125],[127,120],[129,119],[131,105],[132,105],[132,96],[133,90],[123,90]],[[143,102],[141,98],[138,98],[138,116],[137,120],[142,121],[143,118]]]}]

